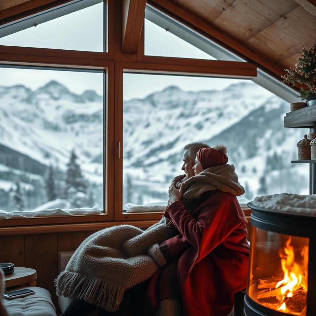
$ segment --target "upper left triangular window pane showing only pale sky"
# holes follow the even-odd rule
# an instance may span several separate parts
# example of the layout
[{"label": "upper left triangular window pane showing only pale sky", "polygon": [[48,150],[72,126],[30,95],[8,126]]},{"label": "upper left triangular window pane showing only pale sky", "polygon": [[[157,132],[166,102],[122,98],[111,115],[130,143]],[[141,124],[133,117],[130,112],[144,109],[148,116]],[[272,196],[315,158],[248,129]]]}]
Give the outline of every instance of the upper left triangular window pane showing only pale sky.
[{"label": "upper left triangular window pane showing only pale sky", "polygon": [[103,52],[103,15],[101,2],[4,36],[0,45]]}]

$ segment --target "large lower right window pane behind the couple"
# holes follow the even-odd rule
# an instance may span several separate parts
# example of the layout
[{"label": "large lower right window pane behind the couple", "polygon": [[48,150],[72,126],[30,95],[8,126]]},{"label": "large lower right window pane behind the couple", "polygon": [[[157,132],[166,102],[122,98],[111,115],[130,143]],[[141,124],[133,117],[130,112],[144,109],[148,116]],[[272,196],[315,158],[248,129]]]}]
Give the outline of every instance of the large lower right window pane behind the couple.
[{"label": "large lower right window pane behind the couple", "polygon": [[246,193],[308,194],[309,168],[291,164],[308,133],[284,128],[289,103],[249,80],[124,74],[123,209],[167,202],[183,147],[194,141],[228,149]]}]

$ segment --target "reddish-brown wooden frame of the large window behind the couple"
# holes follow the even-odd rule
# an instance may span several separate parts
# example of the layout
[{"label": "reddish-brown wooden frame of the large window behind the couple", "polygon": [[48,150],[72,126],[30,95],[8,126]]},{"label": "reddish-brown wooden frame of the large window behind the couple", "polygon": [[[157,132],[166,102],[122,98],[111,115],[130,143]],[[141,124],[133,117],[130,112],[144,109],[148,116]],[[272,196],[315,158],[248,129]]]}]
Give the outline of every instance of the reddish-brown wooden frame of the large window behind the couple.
[{"label": "reddish-brown wooden frame of the large window behind the couple", "polygon": [[[123,197],[123,75],[124,72],[132,73],[150,73],[150,74],[169,74],[169,75],[187,75],[187,76],[207,76],[207,77],[225,77],[225,78],[244,78],[252,79],[257,74],[257,68],[244,62],[227,62],[218,60],[197,60],[197,65],[190,59],[185,61],[187,64],[174,64],[169,61],[173,58],[153,57],[155,60],[167,60],[165,64],[145,64],[144,62],[115,63],[115,197],[114,212],[115,221],[131,220],[151,220],[160,219],[163,212],[142,212],[127,213],[122,210]],[[152,59],[150,57],[150,59]],[[178,58],[177,58],[178,59]],[[185,58],[180,58],[185,59]],[[147,60],[147,59],[146,59]],[[183,60],[181,60],[183,62]],[[243,74],[241,76],[240,74]],[[239,76],[237,75],[239,74]]]}]

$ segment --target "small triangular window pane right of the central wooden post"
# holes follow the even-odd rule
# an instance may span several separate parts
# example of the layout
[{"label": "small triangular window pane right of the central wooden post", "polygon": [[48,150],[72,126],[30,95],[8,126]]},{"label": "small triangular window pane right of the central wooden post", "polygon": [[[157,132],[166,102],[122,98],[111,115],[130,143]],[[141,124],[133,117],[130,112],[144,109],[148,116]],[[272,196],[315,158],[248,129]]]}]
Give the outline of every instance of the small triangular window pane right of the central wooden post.
[{"label": "small triangular window pane right of the central wooden post", "polygon": [[203,52],[192,44],[182,40],[171,32],[167,32],[157,24],[145,19],[145,55],[213,59],[213,56]]}]

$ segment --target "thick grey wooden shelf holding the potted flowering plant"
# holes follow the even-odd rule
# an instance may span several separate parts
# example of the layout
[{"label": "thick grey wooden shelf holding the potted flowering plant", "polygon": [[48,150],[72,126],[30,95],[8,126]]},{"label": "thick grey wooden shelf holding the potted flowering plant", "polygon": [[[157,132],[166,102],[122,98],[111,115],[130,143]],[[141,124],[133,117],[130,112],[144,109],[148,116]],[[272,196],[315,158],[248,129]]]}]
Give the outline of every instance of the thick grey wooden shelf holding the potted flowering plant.
[{"label": "thick grey wooden shelf holding the potted flowering plant", "polygon": [[284,127],[314,128],[315,123],[316,105],[286,113],[284,117]]}]

